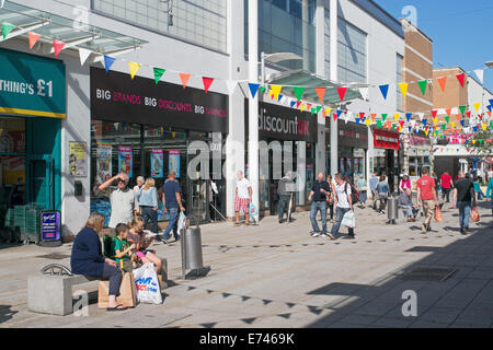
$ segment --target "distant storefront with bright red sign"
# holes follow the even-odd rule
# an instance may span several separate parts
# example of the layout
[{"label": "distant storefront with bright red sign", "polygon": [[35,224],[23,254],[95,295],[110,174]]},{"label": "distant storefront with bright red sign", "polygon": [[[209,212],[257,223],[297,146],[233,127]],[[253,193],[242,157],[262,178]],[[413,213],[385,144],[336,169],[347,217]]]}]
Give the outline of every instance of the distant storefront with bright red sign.
[{"label": "distant storefront with bright red sign", "polygon": [[399,178],[399,132],[377,128],[372,132],[375,149],[370,167],[374,174],[387,175],[390,191],[394,191]]}]

